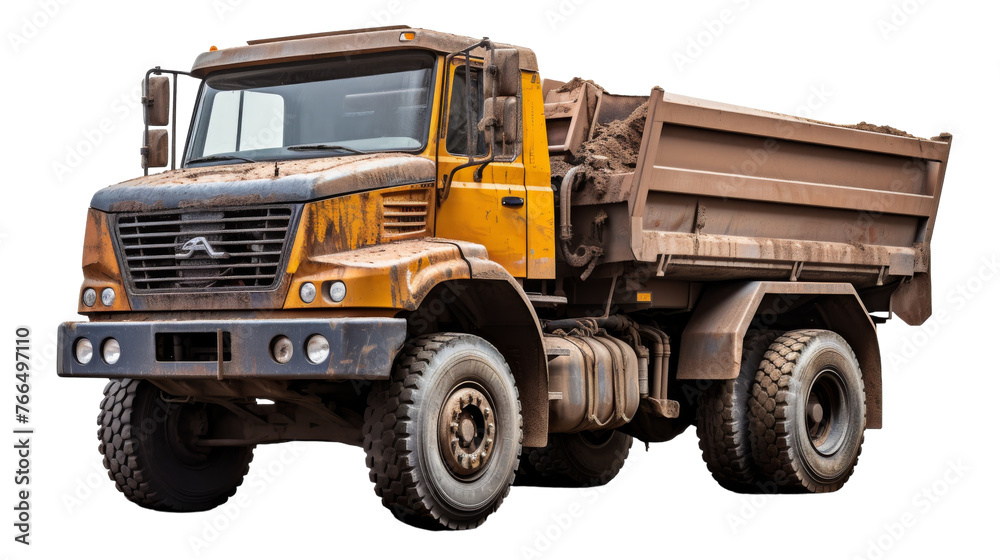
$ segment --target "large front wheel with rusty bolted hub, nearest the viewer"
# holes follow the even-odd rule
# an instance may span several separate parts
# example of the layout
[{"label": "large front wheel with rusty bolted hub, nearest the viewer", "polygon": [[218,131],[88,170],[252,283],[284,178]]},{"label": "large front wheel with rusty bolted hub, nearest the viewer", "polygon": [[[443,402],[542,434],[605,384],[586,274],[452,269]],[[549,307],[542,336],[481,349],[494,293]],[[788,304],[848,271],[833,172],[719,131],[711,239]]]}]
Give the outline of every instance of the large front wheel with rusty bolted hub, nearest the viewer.
[{"label": "large front wheel with rusty bolted hub, nearest the viewer", "polygon": [[365,412],[375,493],[397,519],[470,529],[496,511],[521,453],[514,377],[490,343],[467,334],[411,341]]}]

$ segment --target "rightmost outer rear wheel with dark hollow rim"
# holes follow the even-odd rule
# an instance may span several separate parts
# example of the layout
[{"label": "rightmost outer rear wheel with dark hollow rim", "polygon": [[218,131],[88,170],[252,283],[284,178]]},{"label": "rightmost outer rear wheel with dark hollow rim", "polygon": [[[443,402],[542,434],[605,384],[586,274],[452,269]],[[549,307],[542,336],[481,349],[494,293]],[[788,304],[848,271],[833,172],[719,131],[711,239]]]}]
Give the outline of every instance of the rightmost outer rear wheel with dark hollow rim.
[{"label": "rightmost outer rear wheel with dark hollow rim", "polygon": [[854,472],[865,430],[865,389],[843,338],[823,330],[775,339],[753,388],[751,446],[781,492],[833,492]]}]

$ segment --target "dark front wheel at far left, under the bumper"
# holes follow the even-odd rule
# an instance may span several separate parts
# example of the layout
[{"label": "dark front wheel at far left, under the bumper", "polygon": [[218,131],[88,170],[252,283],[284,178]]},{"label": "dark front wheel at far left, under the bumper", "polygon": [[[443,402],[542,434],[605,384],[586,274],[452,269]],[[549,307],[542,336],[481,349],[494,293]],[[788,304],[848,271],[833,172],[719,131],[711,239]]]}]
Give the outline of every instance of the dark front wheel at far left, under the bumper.
[{"label": "dark front wheel at far left, under the bumper", "polygon": [[148,381],[112,380],[97,417],[98,449],[115,487],[159,511],[205,511],[236,492],[253,447],[203,447],[205,404],[164,400]]}]

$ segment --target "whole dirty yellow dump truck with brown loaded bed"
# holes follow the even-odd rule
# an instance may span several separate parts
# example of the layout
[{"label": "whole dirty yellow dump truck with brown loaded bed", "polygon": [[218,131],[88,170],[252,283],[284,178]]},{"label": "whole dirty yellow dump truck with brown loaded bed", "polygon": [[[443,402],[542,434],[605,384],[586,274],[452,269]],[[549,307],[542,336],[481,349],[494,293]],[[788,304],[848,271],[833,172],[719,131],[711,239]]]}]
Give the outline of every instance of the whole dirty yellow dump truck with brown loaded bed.
[{"label": "whole dirty yellow dump truck with brown loaded bed", "polygon": [[467,529],[690,426],[724,488],[835,491],[882,425],[877,325],[931,314],[948,134],[615,95],[409,27],[143,85],[144,174],[92,199],[58,373],[109,379],[99,450],[145,508],[328,441],[399,520]]}]

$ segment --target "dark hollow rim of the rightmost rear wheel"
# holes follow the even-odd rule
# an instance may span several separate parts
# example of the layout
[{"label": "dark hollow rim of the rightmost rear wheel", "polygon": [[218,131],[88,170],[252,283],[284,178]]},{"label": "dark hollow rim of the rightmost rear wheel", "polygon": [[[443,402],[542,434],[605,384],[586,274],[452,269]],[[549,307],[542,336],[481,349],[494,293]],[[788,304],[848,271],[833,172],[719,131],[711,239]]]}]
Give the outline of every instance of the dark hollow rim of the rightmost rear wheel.
[{"label": "dark hollow rim of the rightmost rear wheel", "polygon": [[813,379],[802,413],[809,443],[820,455],[829,457],[843,447],[850,424],[843,376],[826,368]]}]

